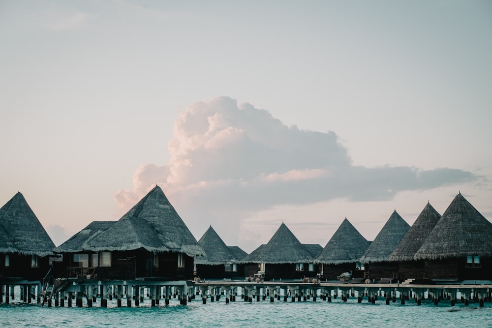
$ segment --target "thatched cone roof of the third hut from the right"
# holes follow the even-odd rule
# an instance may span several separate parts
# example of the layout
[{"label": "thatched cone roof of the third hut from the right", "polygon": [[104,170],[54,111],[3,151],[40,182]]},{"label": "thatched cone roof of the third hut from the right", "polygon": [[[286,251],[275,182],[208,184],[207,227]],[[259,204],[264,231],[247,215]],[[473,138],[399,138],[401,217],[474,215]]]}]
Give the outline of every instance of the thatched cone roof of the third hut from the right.
[{"label": "thatched cone roof of the third hut from the right", "polygon": [[368,250],[360,259],[360,262],[374,263],[388,261],[390,255],[398,246],[401,239],[403,239],[408,229],[410,229],[410,225],[395,210],[388,221],[386,221],[383,229],[381,229],[374,241],[371,242]]}]

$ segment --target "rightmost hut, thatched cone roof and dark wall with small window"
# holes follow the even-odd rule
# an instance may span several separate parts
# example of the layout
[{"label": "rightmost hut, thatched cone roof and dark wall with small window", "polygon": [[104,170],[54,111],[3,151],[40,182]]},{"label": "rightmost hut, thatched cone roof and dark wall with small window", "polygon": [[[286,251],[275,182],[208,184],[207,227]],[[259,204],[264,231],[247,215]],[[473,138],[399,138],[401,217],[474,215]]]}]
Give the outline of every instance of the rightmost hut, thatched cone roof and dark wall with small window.
[{"label": "rightmost hut, thatched cone roof and dark wall with small window", "polygon": [[415,253],[434,281],[492,280],[492,223],[459,193]]}]

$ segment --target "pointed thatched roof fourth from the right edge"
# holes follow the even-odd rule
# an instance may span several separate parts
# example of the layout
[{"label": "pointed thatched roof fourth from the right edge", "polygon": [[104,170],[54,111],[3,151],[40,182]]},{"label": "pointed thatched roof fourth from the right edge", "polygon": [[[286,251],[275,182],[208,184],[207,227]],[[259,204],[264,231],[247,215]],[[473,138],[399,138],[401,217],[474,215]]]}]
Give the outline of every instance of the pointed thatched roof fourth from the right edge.
[{"label": "pointed thatched roof fourth from the right edge", "polygon": [[364,255],[369,245],[370,242],[345,218],[314,263],[355,263]]}]

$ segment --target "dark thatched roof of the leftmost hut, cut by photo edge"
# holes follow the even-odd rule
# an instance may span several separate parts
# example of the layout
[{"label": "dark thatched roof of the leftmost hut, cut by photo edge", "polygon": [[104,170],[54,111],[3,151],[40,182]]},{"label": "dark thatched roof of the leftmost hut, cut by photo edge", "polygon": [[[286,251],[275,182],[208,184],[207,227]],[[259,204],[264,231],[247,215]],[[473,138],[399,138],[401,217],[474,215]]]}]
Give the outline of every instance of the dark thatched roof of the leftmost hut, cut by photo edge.
[{"label": "dark thatched roof of the leftmost hut, cut by photo edge", "polygon": [[55,244],[24,196],[17,192],[0,209],[0,253],[53,255]]}]

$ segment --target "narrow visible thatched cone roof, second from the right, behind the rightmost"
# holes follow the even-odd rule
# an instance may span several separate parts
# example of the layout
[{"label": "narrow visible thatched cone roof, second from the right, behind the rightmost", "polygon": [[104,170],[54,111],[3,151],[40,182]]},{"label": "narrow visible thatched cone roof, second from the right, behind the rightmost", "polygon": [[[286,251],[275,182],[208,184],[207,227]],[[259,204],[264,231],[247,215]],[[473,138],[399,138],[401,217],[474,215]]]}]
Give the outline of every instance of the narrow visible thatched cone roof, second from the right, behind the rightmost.
[{"label": "narrow visible thatched cone roof, second from the right, behind the rightmost", "polygon": [[417,217],[417,220],[415,220],[403,239],[401,239],[389,260],[396,262],[412,261],[415,253],[417,253],[424,241],[429,237],[429,234],[440,218],[441,214],[432,207],[431,203],[427,203],[426,207]]}]

